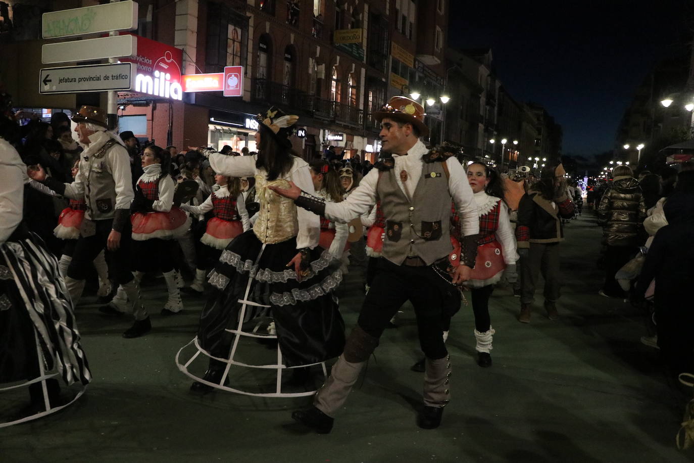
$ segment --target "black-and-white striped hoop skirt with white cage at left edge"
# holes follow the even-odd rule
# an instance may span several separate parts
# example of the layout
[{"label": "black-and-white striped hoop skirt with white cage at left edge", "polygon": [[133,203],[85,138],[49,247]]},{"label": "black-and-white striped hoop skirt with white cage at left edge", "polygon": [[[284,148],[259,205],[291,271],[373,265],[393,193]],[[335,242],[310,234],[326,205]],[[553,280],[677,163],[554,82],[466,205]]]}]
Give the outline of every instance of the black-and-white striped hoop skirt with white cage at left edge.
[{"label": "black-and-white striped hoop skirt with white cage at left edge", "polygon": [[[79,340],[58,260],[36,235],[10,238],[0,246],[0,428],[58,412],[85,392],[91,373]],[[62,396],[58,380],[72,386]],[[31,407],[19,412],[28,396]]]}]

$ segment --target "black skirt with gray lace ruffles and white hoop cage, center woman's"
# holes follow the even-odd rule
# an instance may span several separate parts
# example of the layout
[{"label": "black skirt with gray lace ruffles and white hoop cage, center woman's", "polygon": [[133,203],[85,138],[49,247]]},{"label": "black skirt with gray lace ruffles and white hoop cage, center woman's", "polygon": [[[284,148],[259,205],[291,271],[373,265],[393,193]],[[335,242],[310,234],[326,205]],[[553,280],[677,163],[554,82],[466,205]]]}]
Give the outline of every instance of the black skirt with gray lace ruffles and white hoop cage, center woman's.
[{"label": "black skirt with gray lace ruffles and white hoop cage, center woman's", "polygon": [[[325,361],[342,353],[344,321],[332,294],[342,274],[339,261],[316,247],[307,275],[298,281],[294,268],[286,267],[296,253],[295,238],[264,244],[253,230],[236,237],[210,273],[212,294],[198,335],[176,354],[178,369],[236,394],[314,394],[315,387],[289,391],[283,379],[305,368],[320,368],[325,376]],[[197,373],[205,363],[221,372],[216,381]]]}]

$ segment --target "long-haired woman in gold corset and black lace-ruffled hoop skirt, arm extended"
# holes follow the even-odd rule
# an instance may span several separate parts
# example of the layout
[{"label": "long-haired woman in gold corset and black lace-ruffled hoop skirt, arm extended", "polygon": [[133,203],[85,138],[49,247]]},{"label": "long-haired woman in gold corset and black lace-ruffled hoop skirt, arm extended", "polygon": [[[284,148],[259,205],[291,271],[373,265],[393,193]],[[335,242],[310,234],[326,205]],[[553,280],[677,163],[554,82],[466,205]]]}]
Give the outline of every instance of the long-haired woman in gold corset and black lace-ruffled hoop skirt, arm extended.
[{"label": "long-haired woman in gold corset and black lace-ruffled hoop skirt, arm extended", "polygon": [[[339,262],[317,246],[319,217],[297,210],[293,201],[268,188],[286,187],[291,180],[304,191],[314,191],[309,166],[294,155],[289,141],[298,117],[271,108],[258,119],[257,157],[199,150],[219,174],[254,176],[260,211],[253,229],[226,247],[210,273],[214,292],[203,308],[192,342],[198,348],[196,355],[210,357],[208,371],[198,378],[177,357],[181,371],[198,379],[191,388],[194,392],[209,392],[212,387],[242,392],[226,387],[227,374],[230,364],[239,364],[233,359],[241,324],[255,317],[273,319],[268,332],[278,340],[280,351],[274,366],[278,374],[283,368],[337,357],[344,347],[344,321],[332,294],[342,275]],[[279,387],[273,395],[282,396]]]}]

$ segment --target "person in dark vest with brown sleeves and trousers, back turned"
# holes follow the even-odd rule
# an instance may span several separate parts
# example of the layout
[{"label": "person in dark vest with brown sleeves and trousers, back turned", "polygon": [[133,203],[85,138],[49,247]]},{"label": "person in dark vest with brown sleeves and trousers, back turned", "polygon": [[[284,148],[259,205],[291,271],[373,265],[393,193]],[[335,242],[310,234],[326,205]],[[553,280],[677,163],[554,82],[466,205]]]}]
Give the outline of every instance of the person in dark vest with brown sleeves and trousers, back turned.
[{"label": "person in dark vest with brown sleeves and trousers, back turned", "polygon": [[564,241],[561,219],[573,217],[573,202],[566,194],[564,167],[548,165],[518,204],[516,239],[521,255],[521,314],[530,323],[532,303],[540,272],[545,280],[545,310],[550,320],[559,319],[557,299],[561,289],[559,244]]}]

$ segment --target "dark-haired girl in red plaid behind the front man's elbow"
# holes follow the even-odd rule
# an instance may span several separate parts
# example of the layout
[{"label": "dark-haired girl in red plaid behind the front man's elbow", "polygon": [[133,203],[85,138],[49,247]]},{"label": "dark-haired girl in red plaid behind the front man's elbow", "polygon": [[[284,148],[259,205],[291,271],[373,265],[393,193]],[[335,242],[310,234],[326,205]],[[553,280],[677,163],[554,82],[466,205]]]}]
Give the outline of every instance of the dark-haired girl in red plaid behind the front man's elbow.
[{"label": "dark-haired girl in red plaid behind the front man's elbow", "polygon": [[[472,295],[475,314],[475,339],[477,345],[477,364],[480,367],[491,367],[491,342],[494,328],[489,317],[489,298],[502,275],[506,272],[507,280],[516,278],[516,240],[509,220],[509,212],[502,201],[503,184],[496,171],[489,169],[481,162],[473,162],[467,169],[468,182],[475,194],[477,213],[480,216],[480,239],[477,241],[477,259],[471,279],[465,282]],[[457,217],[451,220],[455,233],[459,230]],[[454,233],[451,240],[454,241]],[[454,250],[450,255],[451,262],[459,264],[460,245],[454,241]]]}]

